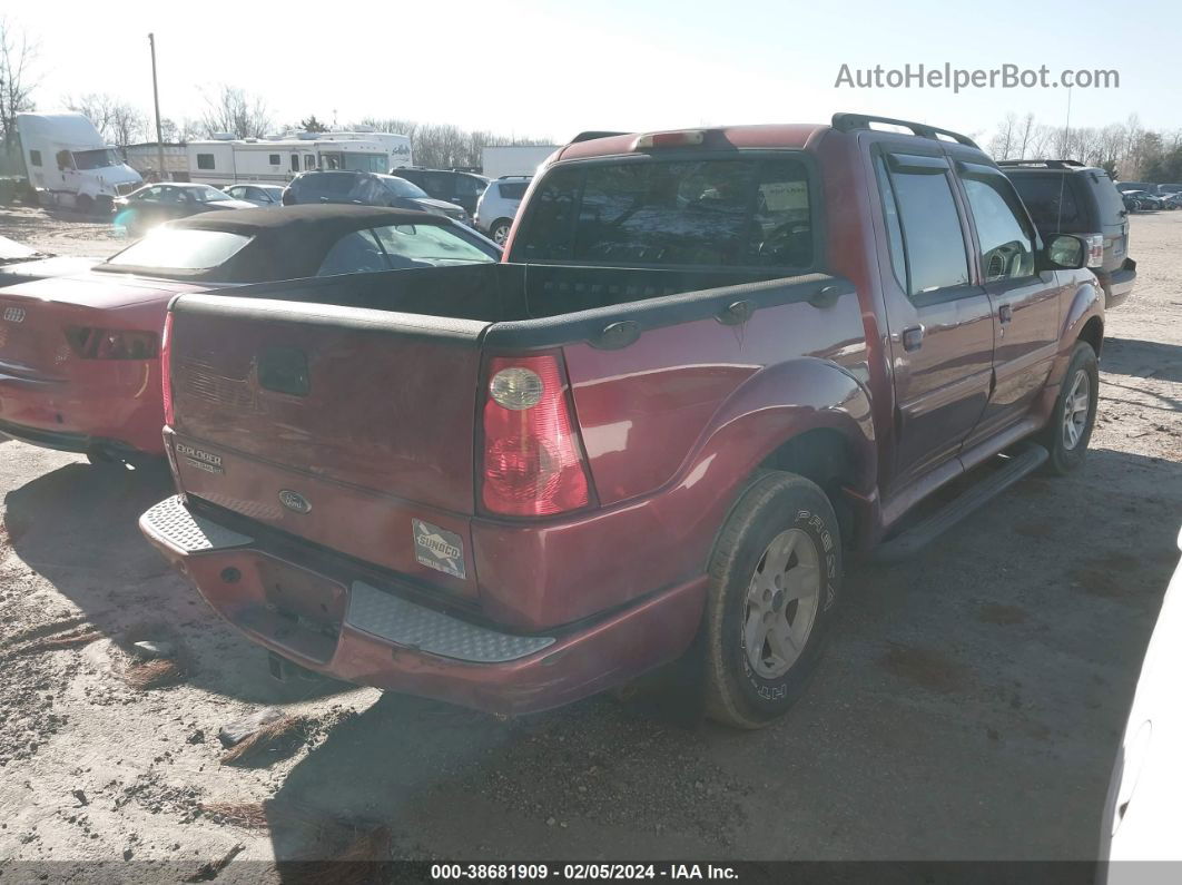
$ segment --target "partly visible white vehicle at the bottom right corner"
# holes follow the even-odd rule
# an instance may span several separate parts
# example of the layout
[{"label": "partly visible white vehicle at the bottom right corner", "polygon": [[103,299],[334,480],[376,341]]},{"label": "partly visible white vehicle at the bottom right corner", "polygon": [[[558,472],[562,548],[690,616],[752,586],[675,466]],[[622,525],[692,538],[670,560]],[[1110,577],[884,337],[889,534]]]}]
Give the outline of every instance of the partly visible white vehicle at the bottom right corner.
[{"label": "partly visible white vehicle at the bottom right corner", "polygon": [[[1182,547],[1182,532],[1178,533]],[[1100,824],[1105,885],[1178,881],[1182,861],[1182,564],[1149,639]],[[1174,866],[1129,864],[1174,861]]]}]

